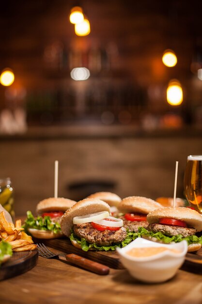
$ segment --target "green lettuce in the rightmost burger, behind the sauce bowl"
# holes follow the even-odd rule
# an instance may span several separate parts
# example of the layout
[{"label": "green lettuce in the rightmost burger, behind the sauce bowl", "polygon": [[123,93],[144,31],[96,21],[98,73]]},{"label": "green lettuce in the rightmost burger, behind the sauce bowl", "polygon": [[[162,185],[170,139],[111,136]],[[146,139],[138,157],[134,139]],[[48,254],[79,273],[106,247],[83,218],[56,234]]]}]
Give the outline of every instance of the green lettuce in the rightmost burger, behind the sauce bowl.
[{"label": "green lettuce in the rightmost burger, behind the sauce bowl", "polygon": [[177,236],[165,236],[164,234],[162,234],[162,232],[151,232],[148,231],[147,229],[143,228],[143,227],[139,227],[138,230],[138,234],[139,236],[151,236],[151,237],[155,237],[157,240],[162,241],[163,243],[169,244],[171,242],[181,242],[183,240],[187,241],[187,244],[195,244],[195,243],[200,243],[202,244],[202,236],[198,237],[198,236],[186,236],[183,237],[182,235],[177,235]]}]

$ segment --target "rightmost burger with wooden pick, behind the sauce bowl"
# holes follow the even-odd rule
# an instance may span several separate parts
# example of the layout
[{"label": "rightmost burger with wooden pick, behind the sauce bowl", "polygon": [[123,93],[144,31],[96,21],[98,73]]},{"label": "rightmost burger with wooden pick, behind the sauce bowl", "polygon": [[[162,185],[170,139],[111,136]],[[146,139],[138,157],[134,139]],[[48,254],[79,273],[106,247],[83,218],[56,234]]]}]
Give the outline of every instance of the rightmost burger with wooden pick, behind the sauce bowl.
[{"label": "rightmost burger with wooden pick, behind the sauce bowl", "polygon": [[142,237],[160,243],[173,243],[186,240],[188,252],[202,247],[202,215],[186,207],[165,207],[150,212],[147,216],[148,227],[140,228]]}]

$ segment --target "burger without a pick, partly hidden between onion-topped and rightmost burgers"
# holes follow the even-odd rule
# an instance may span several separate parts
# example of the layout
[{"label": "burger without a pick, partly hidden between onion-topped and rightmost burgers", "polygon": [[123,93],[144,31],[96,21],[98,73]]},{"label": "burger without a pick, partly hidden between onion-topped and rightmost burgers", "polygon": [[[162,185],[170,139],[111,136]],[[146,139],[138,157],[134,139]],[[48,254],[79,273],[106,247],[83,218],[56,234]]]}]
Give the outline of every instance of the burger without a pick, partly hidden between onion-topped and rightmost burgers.
[{"label": "burger without a pick, partly hidden between onion-topped and rightmost burgers", "polygon": [[123,213],[120,217],[124,221],[124,227],[129,232],[138,232],[139,227],[147,227],[147,214],[162,205],[141,196],[129,196],[119,204],[119,210]]}]

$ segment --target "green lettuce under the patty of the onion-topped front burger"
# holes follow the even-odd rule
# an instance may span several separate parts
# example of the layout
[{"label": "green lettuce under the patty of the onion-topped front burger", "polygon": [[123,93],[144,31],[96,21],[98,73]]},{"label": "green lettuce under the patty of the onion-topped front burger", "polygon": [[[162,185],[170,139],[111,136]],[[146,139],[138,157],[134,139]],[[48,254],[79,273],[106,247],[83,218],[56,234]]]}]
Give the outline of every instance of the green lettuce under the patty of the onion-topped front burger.
[{"label": "green lettuce under the patty of the onion-topped front burger", "polygon": [[139,235],[140,235],[139,233],[133,233],[133,232],[127,231],[127,236],[122,242],[114,243],[113,245],[110,245],[110,246],[99,246],[99,245],[96,245],[95,243],[90,244],[84,238],[79,238],[73,231],[70,236],[70,240],[77,241],[80,244],[81,249],[83,251],[88,251],[89,249],[97,250],[97,251],[109,251],[109,250],[114,251],[114,250],[116,250],[117,247],[119,247],[119,248],[125,247],[132,240],[136,239]]}]

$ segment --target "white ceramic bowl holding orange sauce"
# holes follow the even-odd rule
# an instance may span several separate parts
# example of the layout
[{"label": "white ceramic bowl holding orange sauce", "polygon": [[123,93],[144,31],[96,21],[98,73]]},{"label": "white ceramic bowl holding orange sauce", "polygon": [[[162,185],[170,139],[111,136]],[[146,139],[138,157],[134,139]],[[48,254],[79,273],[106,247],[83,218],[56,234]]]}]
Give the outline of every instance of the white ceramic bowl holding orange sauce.
[{"label": "white ceramic bowl holding orange sauce", "polygon": [[[180,253],[164,251],[148,257],[133,257],[127,254],[132,248],[142,247],[166,247],[176,249]],[[175,244],[162,244],[138,237],[124,248],[117,248],[117,252],[122,264],[134,278],[147,283],[160,283],[171,279],[182,266],[187,247],[185,240]]]}]

